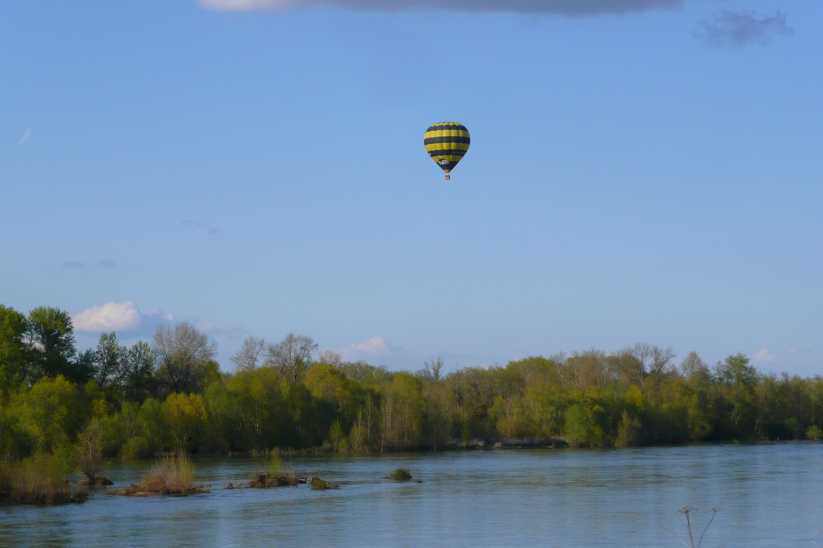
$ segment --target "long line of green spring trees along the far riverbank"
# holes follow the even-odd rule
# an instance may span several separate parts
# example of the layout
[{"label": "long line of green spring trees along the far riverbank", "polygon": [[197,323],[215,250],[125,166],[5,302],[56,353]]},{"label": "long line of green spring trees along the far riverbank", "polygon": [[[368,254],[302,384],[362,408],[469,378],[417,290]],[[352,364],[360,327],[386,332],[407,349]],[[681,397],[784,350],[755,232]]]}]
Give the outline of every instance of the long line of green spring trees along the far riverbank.
[{"label": "long line of green spring trees along the far riverbank", "polygon": [[823,378],[764,375],[740,353],[710,367],[637,343],[444,375],[439,358],[388,371],[317,349],[302,335],[249,337],[227,373],[216,343],[185,322],[129,347],[104,333],[78,352],[67,312],[0,306],[0,454],[58,454],[78,440],[86,453],[146,458],[823,435]]}]

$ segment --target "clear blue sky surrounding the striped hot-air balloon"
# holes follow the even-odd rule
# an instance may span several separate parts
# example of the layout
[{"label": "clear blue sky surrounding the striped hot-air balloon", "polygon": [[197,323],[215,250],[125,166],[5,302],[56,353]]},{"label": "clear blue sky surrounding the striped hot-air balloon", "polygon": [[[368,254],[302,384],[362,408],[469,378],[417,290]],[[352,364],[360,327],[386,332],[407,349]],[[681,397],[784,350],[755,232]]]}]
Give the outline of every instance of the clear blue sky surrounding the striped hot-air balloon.
[{"label": "clear blue sky surrounding the striped hot-air balloon", "polygon": [[6,2],[0,302],[190,320],[226,369],[294,331],[823,374],[823,3],[602,2]]}]

